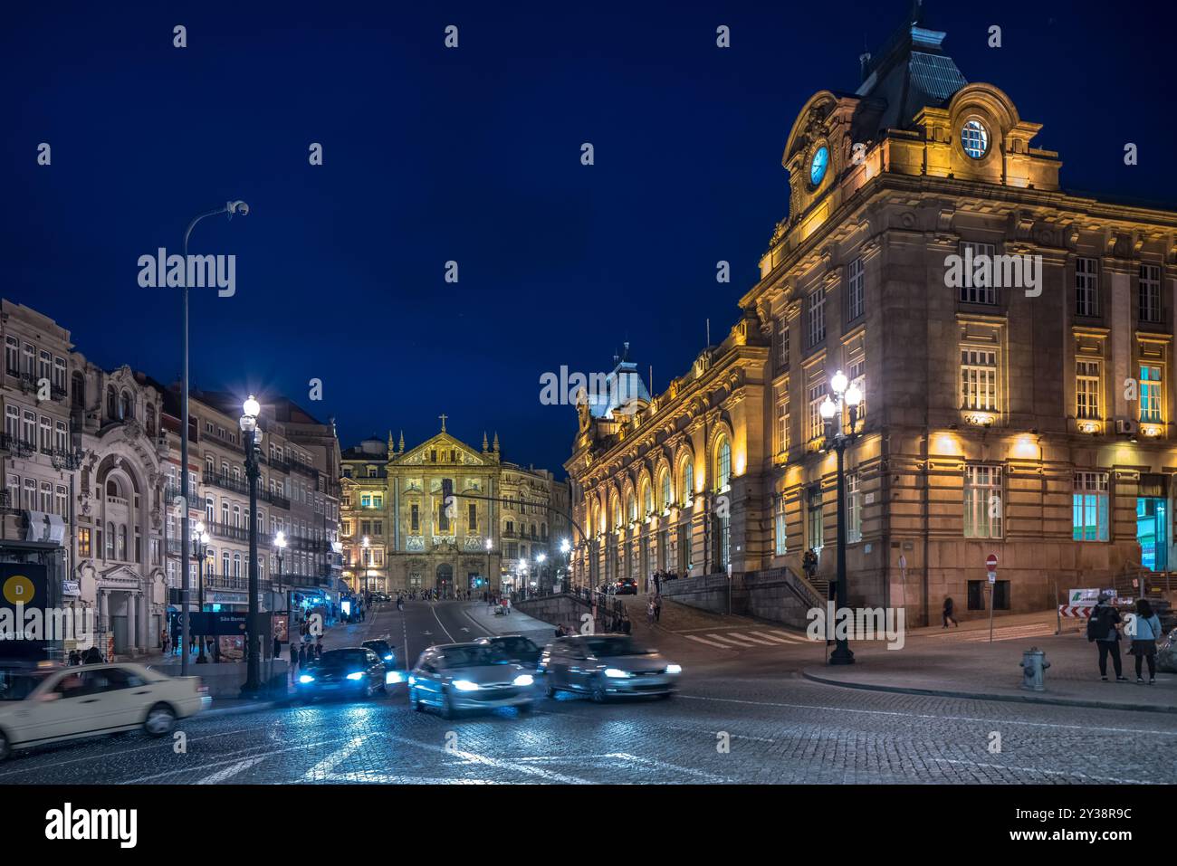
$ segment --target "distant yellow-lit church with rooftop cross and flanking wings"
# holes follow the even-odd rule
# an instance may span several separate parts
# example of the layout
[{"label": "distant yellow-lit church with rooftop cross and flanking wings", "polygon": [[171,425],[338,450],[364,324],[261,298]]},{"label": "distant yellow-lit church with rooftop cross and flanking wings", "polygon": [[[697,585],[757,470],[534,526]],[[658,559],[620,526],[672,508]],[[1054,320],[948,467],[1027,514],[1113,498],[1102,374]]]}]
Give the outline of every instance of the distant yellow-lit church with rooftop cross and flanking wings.
[{"label": "distant yellow-lit church with rooftop cross and flanking wings", "polygon": [[[447,512],[443,480],[453,484]],[[355,589],[514,588],[550,578],[564,529],[565,482],[501,459],[483,435],[473,448],[445,429],[405,448],[373,437],[343,454],[344,578]],[[566,537],[566,533],[560,538]]]}]

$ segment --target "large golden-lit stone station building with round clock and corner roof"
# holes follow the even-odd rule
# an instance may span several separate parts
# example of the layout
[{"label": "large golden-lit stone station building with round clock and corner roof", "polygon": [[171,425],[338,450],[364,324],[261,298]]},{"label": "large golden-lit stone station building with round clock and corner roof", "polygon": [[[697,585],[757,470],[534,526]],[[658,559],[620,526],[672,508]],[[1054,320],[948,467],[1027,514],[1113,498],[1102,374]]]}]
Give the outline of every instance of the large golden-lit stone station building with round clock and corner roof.
[{"label": "large golden-lit stone station building with round clock and corner roof", "polygon": [[813,548],[824,594],[840,518],[819,407],[838,371],[865,392],[852,605],[935,621],[951,597],[979,615],[990,553],[998,612],[1131,591],[1175,560],[1177,214],[1060,188],[1039,125],[966,82],[944,35],[902,27],[857,91],[802,108],[790,213],[726,339],[663,394],[581,407],[578,581],[799,574]]}]

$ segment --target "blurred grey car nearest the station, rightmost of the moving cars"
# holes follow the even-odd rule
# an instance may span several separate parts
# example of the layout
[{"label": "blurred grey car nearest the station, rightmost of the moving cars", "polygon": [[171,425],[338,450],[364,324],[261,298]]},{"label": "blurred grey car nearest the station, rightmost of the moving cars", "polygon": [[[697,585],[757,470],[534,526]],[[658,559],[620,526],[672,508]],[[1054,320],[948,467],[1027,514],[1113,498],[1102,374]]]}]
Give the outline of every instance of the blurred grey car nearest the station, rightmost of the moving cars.
[{"label": "blurred grey car nearest the station, rightmost of the moving cars", "polygon": [[627,634],[577,634],[557,638],[540,658],[548,698],[579,692],[594,701],[678,691],[679,665]]}]

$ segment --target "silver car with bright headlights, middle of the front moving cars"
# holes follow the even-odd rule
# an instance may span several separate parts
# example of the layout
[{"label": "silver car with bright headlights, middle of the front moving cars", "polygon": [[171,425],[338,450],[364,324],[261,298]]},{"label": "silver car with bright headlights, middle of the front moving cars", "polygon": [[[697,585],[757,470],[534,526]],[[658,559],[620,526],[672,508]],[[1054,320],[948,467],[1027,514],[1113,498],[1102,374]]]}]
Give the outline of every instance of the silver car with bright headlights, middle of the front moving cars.
[{"label": "silver car with bright headlights, middle of the front moving cars", "polygon": [[408,674],[408,702],[421,711],[434,706],[447,719],[463,710],[531,710],[534,677],[483,644],[431,646]]}]

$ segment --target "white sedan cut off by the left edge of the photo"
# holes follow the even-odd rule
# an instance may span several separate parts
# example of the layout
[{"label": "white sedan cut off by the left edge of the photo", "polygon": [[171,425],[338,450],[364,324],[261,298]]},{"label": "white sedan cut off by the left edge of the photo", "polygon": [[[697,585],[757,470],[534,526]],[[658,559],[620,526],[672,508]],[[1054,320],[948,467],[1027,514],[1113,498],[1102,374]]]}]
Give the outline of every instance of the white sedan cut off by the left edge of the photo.
[{"label": "white sedan cut off by the left edge of the photo", "polygon": [[0,670],[0,760],[14,748],[142,728],[171,733],[211,702],[199,677],[142,665]]}]

